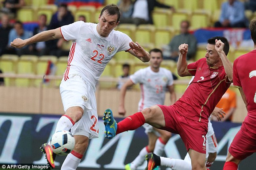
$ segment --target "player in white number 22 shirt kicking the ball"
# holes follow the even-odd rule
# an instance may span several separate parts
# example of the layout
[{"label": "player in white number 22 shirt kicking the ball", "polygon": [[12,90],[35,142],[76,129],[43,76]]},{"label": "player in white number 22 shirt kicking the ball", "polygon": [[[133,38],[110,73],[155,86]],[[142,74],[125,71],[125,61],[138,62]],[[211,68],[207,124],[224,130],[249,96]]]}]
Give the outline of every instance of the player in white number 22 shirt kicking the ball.
[{"label": "player in white number 22 shirt kicking the ball", "polygon": [[[73,41],[67,69],[60,85],[65,114],[59,119],[55,131],[71,129],[76,145],[68,154],[61,170],[75,170],[88,147],[89,139],[98,137],[95,84],[113,55],[119,51],[128,51],[143,62],[150,59],[149,53],[141,45],[132,42],[128,35],[113,30],[119,24],[119,19],[119,8],[110,4],[99,14],[99,24],[78,21],[41,32],[29,39],[15,39],[10,44],[12,47],[21,48],[52,39],[64,38]],[[48,163],[54,168],[56,155],[47,143],[42,147]]]}]

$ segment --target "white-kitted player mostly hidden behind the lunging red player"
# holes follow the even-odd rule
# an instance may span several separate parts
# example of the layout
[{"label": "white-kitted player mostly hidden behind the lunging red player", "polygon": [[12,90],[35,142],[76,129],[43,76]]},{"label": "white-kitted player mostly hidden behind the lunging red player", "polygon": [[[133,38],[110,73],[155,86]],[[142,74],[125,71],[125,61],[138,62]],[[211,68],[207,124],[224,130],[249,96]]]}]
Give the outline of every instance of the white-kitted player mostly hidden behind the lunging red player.
[{"label": "white-kitted player mostly hidden behind the lunging red player", "polygon": [[[195,76],[192,76],[189,84],[192,82]],[[212,115],[215,116],[218,121],[223,119],[226,113],[222,109],[215,107]],[[206,168],[210,168],[214,160],[217,157],[218,142],[216,140],[210,117],[208,119],[208,132],[206,134]],[[155,153],[154,153],[155,154]],[[157,155],[157,154],[156,154]],[[185,156],[184,160],[160,157],[161,166],[172,168],[172,170],[191,170],[191,158],[189,153]]]}]

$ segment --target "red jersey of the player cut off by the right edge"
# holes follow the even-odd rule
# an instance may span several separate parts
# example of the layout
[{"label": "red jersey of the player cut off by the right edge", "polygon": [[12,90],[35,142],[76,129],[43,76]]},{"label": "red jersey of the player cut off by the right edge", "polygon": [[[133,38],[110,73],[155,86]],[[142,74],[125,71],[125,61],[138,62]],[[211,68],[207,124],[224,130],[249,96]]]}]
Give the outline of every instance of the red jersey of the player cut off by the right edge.
[{"label": "red jersey of the player cut off by the right edge", "polygon": [[242,88],[246,95],[248,115],[245,118],[246,125],[250,125],[253,133],[256,133],[256,50],[241,55],[234,61],[233,84]]}]

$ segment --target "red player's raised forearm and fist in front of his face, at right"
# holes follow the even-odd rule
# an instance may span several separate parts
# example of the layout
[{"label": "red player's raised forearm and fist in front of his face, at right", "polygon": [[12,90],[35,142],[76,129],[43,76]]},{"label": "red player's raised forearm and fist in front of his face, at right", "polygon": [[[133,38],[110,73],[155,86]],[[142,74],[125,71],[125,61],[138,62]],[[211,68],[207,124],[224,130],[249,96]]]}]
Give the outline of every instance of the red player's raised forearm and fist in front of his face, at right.
[{"label": "red player's raised forearm and fist in front of his face, at right", "polygon": [[229,61],[227,55],[223,51],[224,43],[221,40],[215,40],[215,49],[218,52],[222,64],[224,66],[225,72],[229,78],[230,82],[233,82],[233,66],[232,63]]}]

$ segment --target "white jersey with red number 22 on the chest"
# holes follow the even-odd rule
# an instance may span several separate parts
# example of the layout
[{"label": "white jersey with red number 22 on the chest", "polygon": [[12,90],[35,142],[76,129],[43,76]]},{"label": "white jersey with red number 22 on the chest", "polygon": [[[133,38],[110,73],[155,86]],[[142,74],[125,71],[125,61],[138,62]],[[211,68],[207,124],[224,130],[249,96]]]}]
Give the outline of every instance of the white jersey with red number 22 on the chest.
[{"label": "white jersey with red number 22 on the chest", "polygon": [[96,27],[97,24],[83,21],[61,27],[63,38],[73,41],[63,79],[66,81],[69,76],[78,74],[94,91],[99,77],[113,55],[118,51],[128,51],[132,41],[128,35],[115,30],[111,31],[108,37],[101,37]]}]

